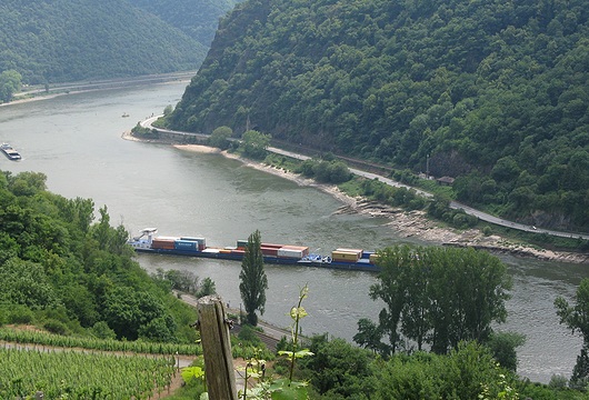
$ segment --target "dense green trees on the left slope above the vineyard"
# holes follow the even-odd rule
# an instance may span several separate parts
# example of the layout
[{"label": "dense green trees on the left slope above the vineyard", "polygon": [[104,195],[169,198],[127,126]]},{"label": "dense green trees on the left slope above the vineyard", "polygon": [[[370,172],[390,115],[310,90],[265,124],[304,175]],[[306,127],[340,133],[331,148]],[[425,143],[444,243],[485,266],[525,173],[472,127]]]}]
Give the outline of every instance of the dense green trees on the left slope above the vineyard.
[{"label": "dense green trees on the left slope above the vineyard", "polygon": [[193,342],[196,313],[132,260],[107,208],[46,190],[42,173],[0,172],[0,326],[60,334]]}]

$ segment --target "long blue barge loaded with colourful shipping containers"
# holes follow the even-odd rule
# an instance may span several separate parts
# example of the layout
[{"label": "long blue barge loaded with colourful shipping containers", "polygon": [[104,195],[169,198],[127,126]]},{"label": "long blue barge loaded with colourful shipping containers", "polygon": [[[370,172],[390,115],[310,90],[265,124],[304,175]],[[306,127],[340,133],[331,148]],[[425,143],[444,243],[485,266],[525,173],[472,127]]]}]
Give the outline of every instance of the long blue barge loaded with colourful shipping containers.
[{"label": "long blue barge loaded with colourful shipping containers", "polygon": [[[241,261],[247,240],[236,246],[207,247],[204,238],[156,236],[157,228],[146,228],[141,234],[129,240],[137,252],[200,257],[219,260]],[[336,249],[330,256],[312,254],[306,246],[261,243],[263,262],[273,264],[308,266],[356,271],[378,272],[377,254],[361,249]]]}]

